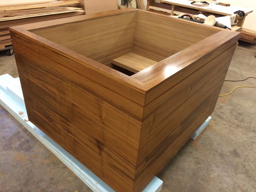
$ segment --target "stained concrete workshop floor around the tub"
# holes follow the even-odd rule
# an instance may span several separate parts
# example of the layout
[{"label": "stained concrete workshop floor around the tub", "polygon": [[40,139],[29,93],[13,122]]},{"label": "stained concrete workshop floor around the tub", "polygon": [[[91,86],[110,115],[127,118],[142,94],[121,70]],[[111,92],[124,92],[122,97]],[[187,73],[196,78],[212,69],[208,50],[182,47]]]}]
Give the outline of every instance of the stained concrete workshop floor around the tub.
[{"label": "stained concrete workshop floor around the tub", "polygon": [[[256,76],[256,46],[238,47],[226,79]],[[252,52],[254,50],[254,52]],[[14,56],[0,53],[0,75],[17,77]],[[255,79],[224,82],[221,94]],[[162,192],[256,191],[256,88],[220,97],[210,125],[158,174]],[[0,192],[91,191],[0,106]]]}]

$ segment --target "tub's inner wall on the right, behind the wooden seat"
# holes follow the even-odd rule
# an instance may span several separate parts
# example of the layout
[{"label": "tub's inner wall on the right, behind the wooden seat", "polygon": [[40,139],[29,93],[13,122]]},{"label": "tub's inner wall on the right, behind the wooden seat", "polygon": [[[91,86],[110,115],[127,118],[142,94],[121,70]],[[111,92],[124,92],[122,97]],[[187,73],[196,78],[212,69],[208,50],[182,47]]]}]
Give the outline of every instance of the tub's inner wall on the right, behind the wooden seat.
[{"label": "tub's inner wall on the right, behind the wooden seat", "polygon": [[132,52],[161,61],[220,31],[178,20],[138,11]]}]

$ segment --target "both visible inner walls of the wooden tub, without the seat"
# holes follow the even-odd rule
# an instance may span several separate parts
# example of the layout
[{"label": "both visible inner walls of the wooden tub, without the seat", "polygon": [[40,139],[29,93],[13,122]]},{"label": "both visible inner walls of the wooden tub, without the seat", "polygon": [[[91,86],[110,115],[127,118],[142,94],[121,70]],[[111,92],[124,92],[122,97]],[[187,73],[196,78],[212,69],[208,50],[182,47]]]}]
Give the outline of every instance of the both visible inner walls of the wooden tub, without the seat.
[{"label": "both visible inner walls of the wooden tub, without the seat", "polygon": [[176,19],[166,19],[150,12],[133,11],[30,31],[115,68],[112,60],[124,54],[133,52],[159,62],[220,29],[194,22],[177,22]]}]

